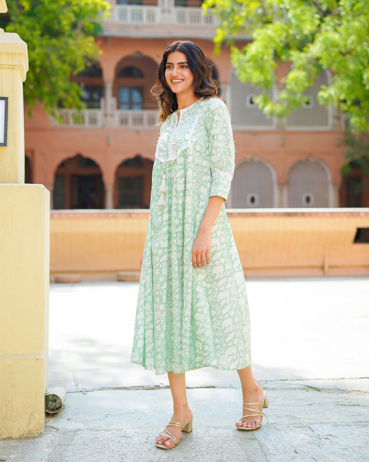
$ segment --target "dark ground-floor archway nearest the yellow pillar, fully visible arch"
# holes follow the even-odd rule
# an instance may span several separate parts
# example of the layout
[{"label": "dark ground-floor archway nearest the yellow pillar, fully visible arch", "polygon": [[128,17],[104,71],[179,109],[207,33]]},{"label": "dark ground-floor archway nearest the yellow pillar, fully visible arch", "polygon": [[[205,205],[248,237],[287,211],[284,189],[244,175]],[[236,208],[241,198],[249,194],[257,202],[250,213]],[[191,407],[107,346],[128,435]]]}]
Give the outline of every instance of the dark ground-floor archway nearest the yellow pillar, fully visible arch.
[{"label": "dark ground-floor archway nearest the yellow pillar, fully visible arch", "polygon": [[58,165],[53,205],[54,209],[104,208],[103,176],[94,160],[77,154]]}]

